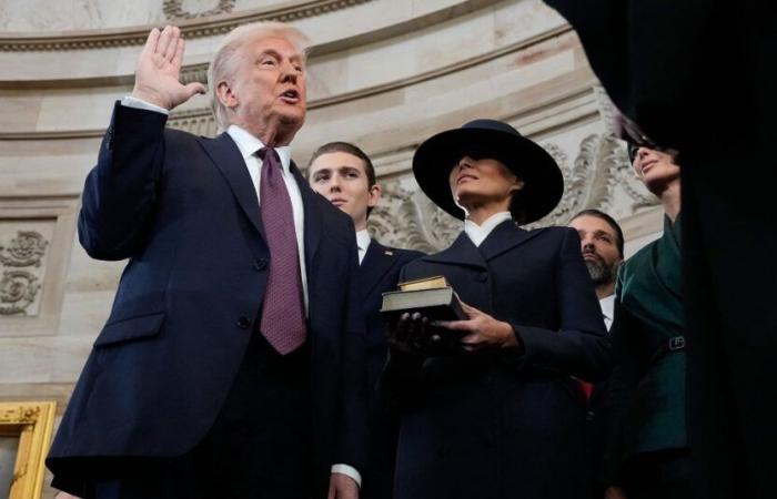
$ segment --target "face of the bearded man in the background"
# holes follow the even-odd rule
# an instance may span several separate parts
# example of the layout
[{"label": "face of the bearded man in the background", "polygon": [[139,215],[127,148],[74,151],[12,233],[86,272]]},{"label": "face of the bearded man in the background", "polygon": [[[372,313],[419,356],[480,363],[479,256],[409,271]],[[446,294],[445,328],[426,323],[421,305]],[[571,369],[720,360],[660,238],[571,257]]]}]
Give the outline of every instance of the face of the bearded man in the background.
[{"label": "face of the bearded man in the background", "polygon": [[623,262],[618,254],[618,235],[598,216],[582,215],[569,222],[581,236],[581,251],[594,284],[612,283]]}]

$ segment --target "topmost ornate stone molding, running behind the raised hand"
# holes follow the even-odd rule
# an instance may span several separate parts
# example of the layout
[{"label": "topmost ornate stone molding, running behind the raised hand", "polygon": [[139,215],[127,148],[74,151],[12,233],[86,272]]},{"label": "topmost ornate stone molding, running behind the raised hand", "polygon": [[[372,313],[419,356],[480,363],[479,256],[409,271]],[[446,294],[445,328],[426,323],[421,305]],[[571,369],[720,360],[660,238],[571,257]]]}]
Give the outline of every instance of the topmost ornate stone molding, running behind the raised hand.
[{"label": "topmost ornate stone molding, running behind the raised hand", "polygon": [[[182,20],[176,24],[185,38],[202,38],[225,34],[240,24],[254,21],[291,22],[366,3],[372,0],[312,0],[300,1],[271,10],[251,10],[241,13],[224,13],[209,18]],[[58,51],[104,49],[110,47],[140,45],[145,42],[149,27],[117,30],[73,32],[64,35],[0,37],[0,52]]]}]

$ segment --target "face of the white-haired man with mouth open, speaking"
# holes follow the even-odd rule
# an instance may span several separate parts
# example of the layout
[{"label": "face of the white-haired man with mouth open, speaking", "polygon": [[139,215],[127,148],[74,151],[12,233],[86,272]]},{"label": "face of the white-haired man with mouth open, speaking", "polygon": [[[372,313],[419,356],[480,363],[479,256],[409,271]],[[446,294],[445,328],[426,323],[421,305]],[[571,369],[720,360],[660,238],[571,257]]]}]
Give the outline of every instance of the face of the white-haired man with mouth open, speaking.
[{"label": "face of the white-haired man with mouth open, speaking", "polygon": [[241,54],[232,81],[218,83],[220,99],[233,111],[232,122],[265,145],[287,144],[305,120],[304,55],[276,37],[246,42]]}]

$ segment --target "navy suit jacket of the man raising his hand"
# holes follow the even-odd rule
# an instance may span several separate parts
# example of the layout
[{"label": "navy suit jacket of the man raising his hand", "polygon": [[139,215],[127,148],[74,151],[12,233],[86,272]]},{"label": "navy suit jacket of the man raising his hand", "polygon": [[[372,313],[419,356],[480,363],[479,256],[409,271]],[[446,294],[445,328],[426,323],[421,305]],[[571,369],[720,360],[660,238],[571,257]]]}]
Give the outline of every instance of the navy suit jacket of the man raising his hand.
[{"label": "navy suit jacket of the man raising his hand", "polygon": [[[245,162],[228,134],[198,138],[165,121],[117,103],[85,182],[82,246],[130,261],[52,445],[54,475],[78,479],[112,461],[103,457],[186,452],[259,334],[272,256]],[[356,243],[350,217],[292,171],[304,204],[313,451],[325,483],[332,464],[365,461]]]}]

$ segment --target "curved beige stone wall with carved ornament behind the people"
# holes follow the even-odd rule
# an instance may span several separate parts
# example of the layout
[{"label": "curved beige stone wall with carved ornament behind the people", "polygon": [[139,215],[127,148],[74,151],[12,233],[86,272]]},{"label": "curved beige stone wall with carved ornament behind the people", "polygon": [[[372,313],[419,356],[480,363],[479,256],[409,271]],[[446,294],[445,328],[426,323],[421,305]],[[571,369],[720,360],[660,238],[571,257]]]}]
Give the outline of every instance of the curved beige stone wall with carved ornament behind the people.
[{"label": "curved beige stone wall with carved ornament behind the people", "polygon": [[[384,185],[371,218],[384,243],[434,251],[458,232],[417,191],[411,160],[425,138],[475,118],[512,123],[562,165],[566,195],[539,224],[599,207],[622,221],[628,253],[660,230],[606,133],[579,41],[539,0],[0,0],[0,399],[56,399],[61,414],[108,315],[123,263],[78,245],[79,195],[145,33],[171,19],[188,38],[189,80],[204,79],[242,22],[282,19],[310,34],[310,113],[293,156],[305,164],[331,140],[367,151]],[[216,133],[199,96],[170,125]],[[13,245],[39,265],[10,265]],[[3,313],[12,306],[22,309]]]}]

